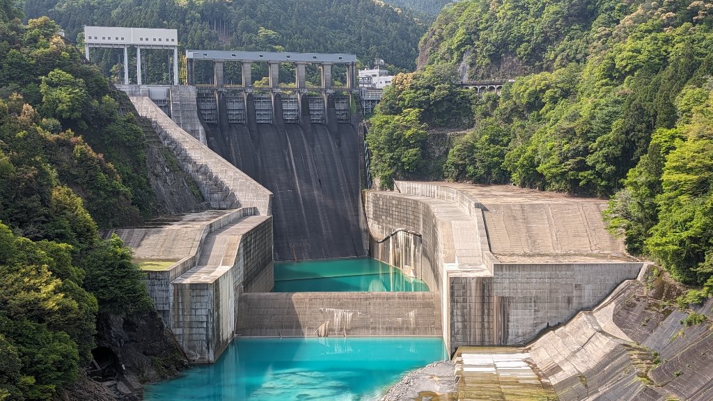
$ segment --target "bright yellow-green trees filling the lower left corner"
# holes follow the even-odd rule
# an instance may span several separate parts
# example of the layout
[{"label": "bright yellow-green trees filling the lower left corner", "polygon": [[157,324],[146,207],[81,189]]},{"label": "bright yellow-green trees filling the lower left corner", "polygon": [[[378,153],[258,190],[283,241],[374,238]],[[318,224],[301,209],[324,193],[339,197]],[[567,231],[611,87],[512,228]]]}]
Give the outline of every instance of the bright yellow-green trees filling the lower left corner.
[{"label": "bright yellow-green trees filling the lower left corner", "polygon": [[34,243],[1,223],[0,243],[0,352],[9,358],[0,384],[11,397],[49,400],[90,356],[96,299],[76,283],[70,246]]}]

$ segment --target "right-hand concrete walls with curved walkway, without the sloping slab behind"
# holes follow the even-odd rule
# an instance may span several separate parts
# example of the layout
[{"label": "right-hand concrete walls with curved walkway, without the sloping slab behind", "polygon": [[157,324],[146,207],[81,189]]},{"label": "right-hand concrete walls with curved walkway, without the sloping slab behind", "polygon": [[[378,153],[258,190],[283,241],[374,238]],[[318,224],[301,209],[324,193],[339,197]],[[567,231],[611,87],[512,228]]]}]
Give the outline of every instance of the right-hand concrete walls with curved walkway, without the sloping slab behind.
[{"label": "right-hand concrete walls with curved walkway, without the sloping slab behind", "polygon": [[[371,235],[381,239],[404,228],[422,237],[404,234],[381,244],[372,241],[371,255],[417,276],[422,272],[419,278],[441,297],[443,338],[451,351],[461,345],[522,345],[579,310],[593,308],[623,280],[636,278],[643,265],[501,263],[490,252],[481,203],[433,183],[399,181],[396,186],[401,193],[367,194]],[[456,204],[468,218],[429,199]],[[476,230],[467,230],[467,225]],[[481,253],[479,267],[463,263],[467,258],[461,255],[476,252]]]}]

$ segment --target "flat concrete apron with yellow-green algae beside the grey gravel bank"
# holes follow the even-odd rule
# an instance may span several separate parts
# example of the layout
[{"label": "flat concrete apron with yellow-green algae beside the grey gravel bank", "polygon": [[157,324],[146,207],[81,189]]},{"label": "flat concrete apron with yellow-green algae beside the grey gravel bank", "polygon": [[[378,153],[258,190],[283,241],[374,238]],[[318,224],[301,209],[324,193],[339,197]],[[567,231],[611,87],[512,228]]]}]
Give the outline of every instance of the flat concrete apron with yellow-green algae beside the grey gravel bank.
[{"label": "flat concrete apron with yellow-green algae beside the grey gravel bank", "polygon": [[550,382],[517,347],[458,347],[458,401],[555,401]]}]

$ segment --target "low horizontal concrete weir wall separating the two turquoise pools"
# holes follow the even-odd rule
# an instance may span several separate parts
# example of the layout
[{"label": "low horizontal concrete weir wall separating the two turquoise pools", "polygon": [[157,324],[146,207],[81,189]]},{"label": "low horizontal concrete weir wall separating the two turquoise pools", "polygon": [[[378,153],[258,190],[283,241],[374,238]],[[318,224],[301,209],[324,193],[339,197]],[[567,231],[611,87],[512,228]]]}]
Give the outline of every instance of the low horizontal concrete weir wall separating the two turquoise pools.
[{"label": "low horizontal concrete weir wall separating the two turquoise pools", "polygon": [[438,300],[434,293],[246,293],[235,334],[441,335]]}]

